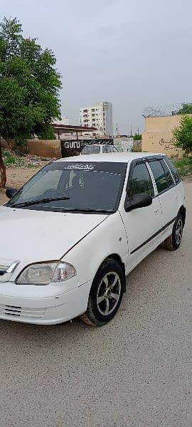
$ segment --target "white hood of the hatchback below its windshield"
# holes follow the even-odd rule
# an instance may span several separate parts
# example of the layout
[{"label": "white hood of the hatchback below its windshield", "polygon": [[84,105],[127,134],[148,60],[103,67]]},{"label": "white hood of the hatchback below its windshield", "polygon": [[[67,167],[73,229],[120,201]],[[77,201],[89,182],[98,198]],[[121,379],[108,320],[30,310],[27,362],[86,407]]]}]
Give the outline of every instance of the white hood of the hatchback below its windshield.
[{"label": "white hood of the hatchback below its windshield", "polygon": [[0,206],[0,260],[59,260],[106,218]]}]

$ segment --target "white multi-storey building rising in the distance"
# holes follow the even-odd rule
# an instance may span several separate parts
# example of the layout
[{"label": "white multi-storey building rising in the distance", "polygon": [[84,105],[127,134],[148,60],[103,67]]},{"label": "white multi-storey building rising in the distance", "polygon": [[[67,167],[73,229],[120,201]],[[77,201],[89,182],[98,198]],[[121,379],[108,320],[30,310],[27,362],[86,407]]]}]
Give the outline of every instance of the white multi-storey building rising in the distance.
[{"label": "white multi-storey building rising in the distance", "polygon": [[80,125],[96,127],[96,135],[112,137],[112,103],[97,102],[92,107],[80,108]]}]

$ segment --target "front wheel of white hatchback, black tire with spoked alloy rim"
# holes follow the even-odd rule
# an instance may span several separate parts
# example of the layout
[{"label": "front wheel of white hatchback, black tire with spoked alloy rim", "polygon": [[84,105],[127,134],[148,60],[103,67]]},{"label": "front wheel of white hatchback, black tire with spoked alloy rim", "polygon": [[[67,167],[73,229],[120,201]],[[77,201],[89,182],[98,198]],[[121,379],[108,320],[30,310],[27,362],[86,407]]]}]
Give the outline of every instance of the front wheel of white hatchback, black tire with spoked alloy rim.
[{"label": "front wheel of white hatchback, black tire with spoked alloy rim", "polygon": [[106,325],[116,315],[122,302],[124,275],[117,261],[107,259],[92,282],[87,311],[80,318],[87,325]]}]

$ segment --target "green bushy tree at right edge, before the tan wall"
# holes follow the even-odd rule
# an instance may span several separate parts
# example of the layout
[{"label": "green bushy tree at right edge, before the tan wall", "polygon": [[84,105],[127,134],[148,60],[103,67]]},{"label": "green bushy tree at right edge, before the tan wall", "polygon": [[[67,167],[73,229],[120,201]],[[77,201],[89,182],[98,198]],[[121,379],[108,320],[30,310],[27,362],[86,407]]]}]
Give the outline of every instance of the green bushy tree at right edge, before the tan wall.
[{"label": "green bushy tree at right edge, before the tan wall", "polygon": [[183,115],[180,125],[175,127],[173,135],[176,147],[182,148],[186,154],[192,153],[192,117]]}]

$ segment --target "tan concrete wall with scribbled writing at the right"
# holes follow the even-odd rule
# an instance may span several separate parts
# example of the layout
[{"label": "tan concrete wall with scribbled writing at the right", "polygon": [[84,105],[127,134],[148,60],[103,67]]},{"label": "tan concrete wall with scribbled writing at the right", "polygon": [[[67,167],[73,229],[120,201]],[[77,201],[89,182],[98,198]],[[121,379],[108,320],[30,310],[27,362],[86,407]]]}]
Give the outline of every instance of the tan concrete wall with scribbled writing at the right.
[{"label": "tan concrete wall with scribbled writing at the right", "polygon": [[146,117],[142,133],[142,151],[164,153],[169,157],[182,157],[181,149],[174,147],[172,130],[179,126],[181,115]]}]

